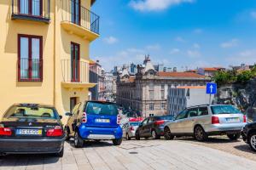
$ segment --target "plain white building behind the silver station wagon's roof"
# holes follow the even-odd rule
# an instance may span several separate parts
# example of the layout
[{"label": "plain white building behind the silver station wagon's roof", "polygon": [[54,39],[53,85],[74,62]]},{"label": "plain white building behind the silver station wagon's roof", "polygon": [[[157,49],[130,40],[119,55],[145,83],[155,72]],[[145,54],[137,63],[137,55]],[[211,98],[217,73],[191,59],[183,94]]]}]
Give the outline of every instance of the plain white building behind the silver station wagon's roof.
[{"label": "plain white building behind the silver station wagon's roof", "polygon": [[186,107],[212,103],[213,96],[210,101],[210,95],[206,92],[207,89],[205,86],[169,88],[167,114],[177,116],[177,113],[183,111]]}]

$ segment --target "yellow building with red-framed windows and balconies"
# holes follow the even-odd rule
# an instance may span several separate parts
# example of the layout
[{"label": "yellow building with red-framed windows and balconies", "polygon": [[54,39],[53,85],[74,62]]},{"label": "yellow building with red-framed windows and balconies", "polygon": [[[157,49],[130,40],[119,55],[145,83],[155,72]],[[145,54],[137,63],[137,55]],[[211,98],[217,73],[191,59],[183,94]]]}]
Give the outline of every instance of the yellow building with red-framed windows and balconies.
[{"label": "yellow building with red-framed windows and balconies", "polygon": [[88,99],[95,1],[0,1],[0,116],[14,103],[55,105],[63,115]]}]

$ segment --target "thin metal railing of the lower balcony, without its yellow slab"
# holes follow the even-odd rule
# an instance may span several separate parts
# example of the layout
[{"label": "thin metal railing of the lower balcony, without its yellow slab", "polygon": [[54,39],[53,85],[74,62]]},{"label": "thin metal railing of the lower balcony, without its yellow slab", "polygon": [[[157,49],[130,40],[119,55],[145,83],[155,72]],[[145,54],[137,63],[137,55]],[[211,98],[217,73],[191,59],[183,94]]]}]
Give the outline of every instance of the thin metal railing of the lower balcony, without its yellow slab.
[{"label": "thin metal railing of the lower balcony, without its yellow slab", "polygon": [[61,60],[62,82],[89,82],[89,63],[79,60]]}]

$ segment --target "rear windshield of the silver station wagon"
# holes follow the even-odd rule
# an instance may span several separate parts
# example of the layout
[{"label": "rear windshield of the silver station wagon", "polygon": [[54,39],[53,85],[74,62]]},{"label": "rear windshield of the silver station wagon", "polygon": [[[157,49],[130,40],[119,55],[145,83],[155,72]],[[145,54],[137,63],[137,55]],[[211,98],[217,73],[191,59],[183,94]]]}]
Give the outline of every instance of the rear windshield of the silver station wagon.
[{"label": "rear windshield of the silver station wagon", "polygon": [[213,105],[211,106],[212,114],[241,114],[241,111],[236,109],[233,105]]}]

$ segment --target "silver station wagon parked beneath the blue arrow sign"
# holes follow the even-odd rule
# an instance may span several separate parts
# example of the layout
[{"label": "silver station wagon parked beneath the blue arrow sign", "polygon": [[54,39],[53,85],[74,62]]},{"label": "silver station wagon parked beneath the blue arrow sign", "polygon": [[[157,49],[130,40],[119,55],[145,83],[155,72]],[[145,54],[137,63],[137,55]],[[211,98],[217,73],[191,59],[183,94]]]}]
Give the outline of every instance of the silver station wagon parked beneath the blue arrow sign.
[{"label": "silver station wagon parked beneath the blue arrow sign", "polygon": [[194,136],[204,141],[210,135],[226,134],[231,140],[240,138],[247,118],[233,105],[198,105],[181,111],[166,124],[165,139]]}]

